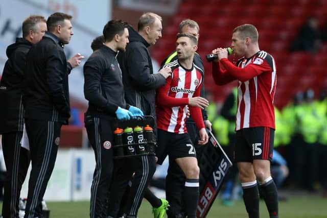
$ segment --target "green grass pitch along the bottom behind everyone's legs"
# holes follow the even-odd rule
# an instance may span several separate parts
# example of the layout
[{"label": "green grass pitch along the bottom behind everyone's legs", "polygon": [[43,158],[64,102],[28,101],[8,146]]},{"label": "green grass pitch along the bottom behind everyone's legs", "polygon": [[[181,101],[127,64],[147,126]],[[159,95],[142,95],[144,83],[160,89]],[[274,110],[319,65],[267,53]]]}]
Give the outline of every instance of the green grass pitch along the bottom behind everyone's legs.
[{"label": "green grass pitch along the bottom behind everyone's legs", "polygon": [[[50,218],[87,218],[89,217],[89,202],[46,202]],[[144,200],[138,211],[139,218],[152,218],[151,205]],[[260,217],[268,218],[264,201],[260,201]],[[217,199],[209,211],[207,218],[240,218],[247,217],[243,201],[226,207]],[[327,198],[320,197],[290,197],[288,201],[279,202],[279,217],[281,218],[327,218]]]}]

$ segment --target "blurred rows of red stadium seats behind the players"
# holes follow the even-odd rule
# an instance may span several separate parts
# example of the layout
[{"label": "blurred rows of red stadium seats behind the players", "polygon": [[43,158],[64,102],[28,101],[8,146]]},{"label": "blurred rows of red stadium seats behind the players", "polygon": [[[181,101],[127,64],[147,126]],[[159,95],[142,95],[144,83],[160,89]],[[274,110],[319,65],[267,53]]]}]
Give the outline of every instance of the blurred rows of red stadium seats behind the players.
[{"label": "blurred rows of red stadium seats behind the players", "polygon": [[327,43],[324,43],[315,55],[288,52],[290,44],[308,16],[317,16],[321,25],[327,20],[327,8],[323,3],[322,0],[208,0],[206,4],[201,4],[199,0],[184,0],[181,1],[176,15],[172,17],[170,25],[164,27],[163,37],[158,40],[151,53],[161,62],[174,50],[173,39],[179,22],[185,18],[193,18],[200,25],[198,52],[204,59],[205,84],[208,84],[206,89],[212,89],[217,95],[216,100],[223,101],[231,88],[214,84],[211,64],[206,62],[204,55],[215,47],[230,46],[232,30],[243,23],[252,23],[259,31],[260,49],[275,58],[278,90],[275,103],[285,105],[297,90],[323,85],[327,87],[324,71],[313,67],[323,67],[327,62]]}]

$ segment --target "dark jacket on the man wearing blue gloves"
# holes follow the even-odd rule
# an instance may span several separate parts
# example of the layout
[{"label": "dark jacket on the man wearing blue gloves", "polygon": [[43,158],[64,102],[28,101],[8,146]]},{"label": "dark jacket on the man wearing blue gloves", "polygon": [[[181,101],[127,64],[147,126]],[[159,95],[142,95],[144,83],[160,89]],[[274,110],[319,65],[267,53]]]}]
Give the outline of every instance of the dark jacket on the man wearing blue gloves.
[{"label": "dark jacket on the man wearing blue gloves", "polygon": [[86,115],[112,119],[118,107],[127,109],[117,53],[103,45],[84,64]]}]

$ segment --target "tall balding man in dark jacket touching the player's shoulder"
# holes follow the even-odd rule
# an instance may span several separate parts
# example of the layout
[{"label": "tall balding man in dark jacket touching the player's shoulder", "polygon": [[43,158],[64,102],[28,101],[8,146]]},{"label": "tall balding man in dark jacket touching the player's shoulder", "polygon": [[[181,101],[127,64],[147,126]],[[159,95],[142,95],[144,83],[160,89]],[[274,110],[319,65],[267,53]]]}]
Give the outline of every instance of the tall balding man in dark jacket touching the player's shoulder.
[{"label": "tall balding man in dark jacket touching the player's shoulder", "polygon": [[[158,74],[153,74],[151,56],[148,48],[154,45],[161,37],[161,17],[155,13],[145,13],[138,21],[137,32],[129,28],[129,44],[126,52],[118,55],[122,68],[123,83],[125,87],[126,103],[141,109],[144,115],[155,114],[155,90],[165,85],[166,78],[171,75],[170,67],[162,68]],[[115,202],[109,204],[108,215],[116,217],[123,192],[131,179],[131,189],[127,198],[125,213],[127,217],[136,217],[141,205],[145,188],[155,172],[155,157],[153,155],[135,156],[115,162],[114,181],[111,185],[110,196]],[[131,178],[134,173],[133,178]],[[150,193],[151,195],[151,193]],[[156,201],[155,208],[162,206],[159,217],[164,216],[168,207],[166,200],[157,199],[153,194],[149,201]],[[155,212],[157,213],[157,212]]]}]

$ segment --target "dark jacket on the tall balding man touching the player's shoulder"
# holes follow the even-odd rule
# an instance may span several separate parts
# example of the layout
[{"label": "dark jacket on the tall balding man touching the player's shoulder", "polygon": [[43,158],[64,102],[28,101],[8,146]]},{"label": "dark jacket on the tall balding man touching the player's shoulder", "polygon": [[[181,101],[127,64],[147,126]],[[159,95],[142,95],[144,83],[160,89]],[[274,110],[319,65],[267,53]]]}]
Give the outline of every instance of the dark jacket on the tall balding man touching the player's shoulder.
[{"label": "dark jacket on the tall balding man touching the player's shoulder", "polygon": [[144,115],[155,116],[155,90],[166,84],[161,74],[153,74],[148,42],[133,28],[129,28],[126,52],[117,57],[123,72],[125,99],[141,109]]}]

